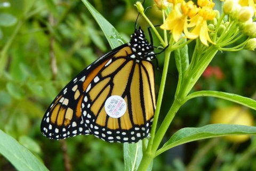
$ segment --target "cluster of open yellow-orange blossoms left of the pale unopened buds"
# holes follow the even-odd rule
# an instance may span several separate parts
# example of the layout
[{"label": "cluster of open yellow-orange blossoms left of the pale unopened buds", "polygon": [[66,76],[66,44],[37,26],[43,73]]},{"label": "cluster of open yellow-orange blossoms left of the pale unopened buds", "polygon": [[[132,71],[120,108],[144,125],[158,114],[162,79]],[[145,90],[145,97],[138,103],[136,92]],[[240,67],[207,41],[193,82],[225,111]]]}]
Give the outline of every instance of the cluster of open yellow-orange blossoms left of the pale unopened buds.
[{"label": "cluster of open yellow-orange blossoms left of the pale unopened buds", "polygon": [[208,46],[208,42],[214,44],[209,36],[207,25],[207,21],[213,20],[216,15],[213,11],[212,0],[198,0],[197,5],[193,1],[185,2],[183,0],[168,0],[167,2],[170,3],[170,6],[172,4],[172,11],[161,28],[170,30],[175,42],[183,33],[189,39],[199,37],[206,46]]}]

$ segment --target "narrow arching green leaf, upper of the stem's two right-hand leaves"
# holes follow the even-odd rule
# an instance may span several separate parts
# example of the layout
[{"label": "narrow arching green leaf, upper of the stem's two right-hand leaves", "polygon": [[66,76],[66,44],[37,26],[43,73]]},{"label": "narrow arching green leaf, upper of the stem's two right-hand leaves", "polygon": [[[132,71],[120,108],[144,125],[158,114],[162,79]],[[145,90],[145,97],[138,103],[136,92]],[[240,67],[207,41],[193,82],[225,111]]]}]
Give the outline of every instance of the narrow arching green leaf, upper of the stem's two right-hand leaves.
[{"label": "narrow arching green leaf, upper of the stem's two right-hand leaves", "polygon": [[242,104],[248,108],[256,110],[256,101],[253,99],[250,99],[249,97],[244,97],[237,94],[232,93],[225,93],[225,92],[217,92],[217,91],[198,91],[191,93],[187,96],[187,100],[193,99],[194,97],[200,97],[200,96],[211,96],[211,97],[218,97],[220,99],[225,99],[231,102],[235,102],[238,104]]}]

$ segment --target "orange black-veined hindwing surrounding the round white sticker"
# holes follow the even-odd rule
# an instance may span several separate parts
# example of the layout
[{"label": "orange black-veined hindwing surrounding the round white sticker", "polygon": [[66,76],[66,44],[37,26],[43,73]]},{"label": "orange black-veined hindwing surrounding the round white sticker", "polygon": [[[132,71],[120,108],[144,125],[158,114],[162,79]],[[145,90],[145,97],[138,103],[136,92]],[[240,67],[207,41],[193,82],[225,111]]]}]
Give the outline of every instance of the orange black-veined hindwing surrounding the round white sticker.
[{"label": "orange black-veined hindwing surrounding the round white sticker", "polygon": [[[155,110],[154,68],[151,62],[132,58],[130,47],[126,54],[118,52],[95,77],[87,89],[82,109],[85,125],[90,132],[108,142],[135,143],[149,135]],[[128,57],[127,57],[128,56]],[[122,117],[107,115],[108,97],[121,96],[127,105]]]}]

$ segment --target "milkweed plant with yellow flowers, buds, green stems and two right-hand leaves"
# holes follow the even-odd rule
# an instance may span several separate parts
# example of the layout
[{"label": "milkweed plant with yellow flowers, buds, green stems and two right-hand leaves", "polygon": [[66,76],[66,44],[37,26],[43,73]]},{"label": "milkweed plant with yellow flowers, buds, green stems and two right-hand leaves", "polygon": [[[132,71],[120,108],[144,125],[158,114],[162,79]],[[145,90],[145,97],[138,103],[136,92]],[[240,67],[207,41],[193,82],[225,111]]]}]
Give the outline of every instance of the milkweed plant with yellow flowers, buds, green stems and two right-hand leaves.
[{"label": "milkweed plant with yellow flowers, buds, green stems and two right-hand leaves", "polygon": [[[218,51],[253,51],[256,48],[256,4],[253,0],[226,0],[223,2],[222,11],[214,10],[215,4],[211,0],[198,0],[197,4],[183,0],[155,0],[155,5],[162,12],[163,23],[160,29],[156,29],[147,18],[141,2],[135,4],[165,48],[163,75],[154,122],[147,147],[143,150],[143,157],[138,166],[140,171],[150,168],[150,163],[159,154],[183,143],[231,134],[256,133],[255,127],[212,124],[200,128],[180,129],[160,146],[167,128],[180,107],[195,97],[218,97],[256,109],[254,100],[237,94],[191,91]],[[189,56],[187,46],[192,42],[195,44],[194,52]],[[170,110],[166,114],[160,114],[171,53],[174,53],[179,72],[178,85]],[[158,123],[159,115],[164,115],[162,123]]]}]

